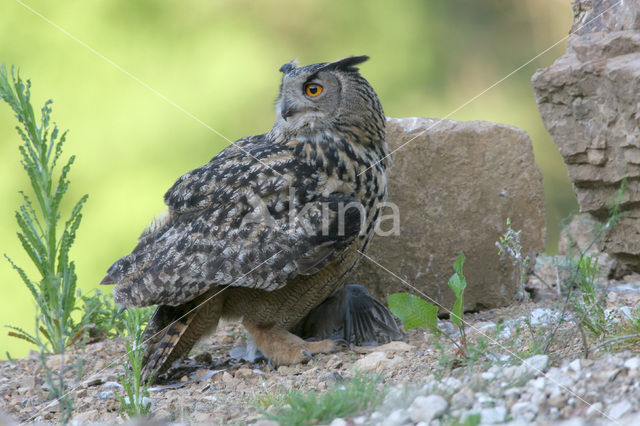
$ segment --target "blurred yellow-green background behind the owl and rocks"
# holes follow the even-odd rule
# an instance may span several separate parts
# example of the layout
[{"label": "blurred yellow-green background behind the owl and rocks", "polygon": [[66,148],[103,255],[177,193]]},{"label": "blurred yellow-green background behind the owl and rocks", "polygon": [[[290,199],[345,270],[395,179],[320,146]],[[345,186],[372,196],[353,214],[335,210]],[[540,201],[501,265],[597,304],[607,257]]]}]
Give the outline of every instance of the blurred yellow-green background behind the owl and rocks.
[{"label": "blurred yellow-green background behind the owl and rocks", "polygon": [[[292,58],[370,55],[361,70],[388,116],[437,118],[562,39],[571,24],[569,0],[24,3],[232,140],[271,128],[278,68]],[[77,159],[67,206],[89,193],[71,255],[79,287],[89,292],[164,210],[174,180],[227,141],[14,0],[2,4],[0,40],[0,63],[32,79],[34,107],[52,98],[54,120],[70,129],[65,153]],[[529,133],[544,176],[548,251],[576,203],[530,78],[564,49],[558,44],[449,117]],[[28,185],[15,125],[3,103],[0,253],[27,266],[15,237],[18,190]],[[0,283],[0,325],[32,331],[33,301],[5,259]],[[31,348],[0,330],[1,358]]]}]

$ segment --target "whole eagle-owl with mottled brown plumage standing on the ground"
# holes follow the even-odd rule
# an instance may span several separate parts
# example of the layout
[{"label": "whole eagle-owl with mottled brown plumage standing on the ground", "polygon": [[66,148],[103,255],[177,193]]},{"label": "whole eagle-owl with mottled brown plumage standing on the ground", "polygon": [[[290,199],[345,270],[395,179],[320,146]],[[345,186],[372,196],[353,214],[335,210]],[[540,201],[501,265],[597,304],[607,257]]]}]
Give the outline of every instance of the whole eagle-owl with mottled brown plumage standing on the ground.
[{"label": "whole eagle-owl with mottled brown plumage standing on the ground", "polygon": [[218,320],[242,318],[274,364],[335,349],[291,334],[343,283],[386,198],[385,117],[350,57],[285,64],[277,119],[177,180],[156,221],[103,284],[124,306],[159,305],[145,374],[161,373]]}]

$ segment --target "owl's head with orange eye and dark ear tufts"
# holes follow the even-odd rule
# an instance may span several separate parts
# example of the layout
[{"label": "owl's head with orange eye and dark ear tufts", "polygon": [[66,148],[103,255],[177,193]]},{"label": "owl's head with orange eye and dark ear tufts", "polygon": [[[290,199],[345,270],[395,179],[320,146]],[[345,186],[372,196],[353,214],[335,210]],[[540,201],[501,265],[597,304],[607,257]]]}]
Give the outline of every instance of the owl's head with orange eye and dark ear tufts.
[{"label": "owl's head with orange eye and dark ear tufts", "polygon": [[272,133],[295,136],[365,117],[384,120],[376,93],[356,67],[367,59],[350,56],[303,67],[295,61],[284,64]]}]

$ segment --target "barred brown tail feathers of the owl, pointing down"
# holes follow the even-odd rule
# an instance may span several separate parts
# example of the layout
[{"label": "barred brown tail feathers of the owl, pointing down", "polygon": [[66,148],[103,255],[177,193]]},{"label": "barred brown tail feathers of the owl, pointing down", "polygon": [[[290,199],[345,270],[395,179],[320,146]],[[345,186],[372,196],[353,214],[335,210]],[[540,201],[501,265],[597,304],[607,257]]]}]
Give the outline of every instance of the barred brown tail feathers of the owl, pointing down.
[{"label": "barred brown tail feathers of the owl, pointing down", "polygon": [[179,306],[158,306],[144,332],[147,342],[142,360],[144,381],[149,378],[152,383],[156,381],[218,325],[224,299],[222,295],[211,298],[209,293]]}]

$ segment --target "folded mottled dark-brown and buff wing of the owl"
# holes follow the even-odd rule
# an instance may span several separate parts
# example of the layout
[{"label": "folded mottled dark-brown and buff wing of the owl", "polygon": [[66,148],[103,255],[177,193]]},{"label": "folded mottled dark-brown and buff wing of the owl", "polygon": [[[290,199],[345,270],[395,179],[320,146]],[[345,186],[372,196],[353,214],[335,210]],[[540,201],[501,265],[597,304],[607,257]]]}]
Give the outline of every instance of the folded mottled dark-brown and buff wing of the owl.
[{"label": "folded mottled dark-brown and buff wing of the owl", "polygon": [[[167,192],[168,216],[102,281],[117,284],[117,303],[177,306],[215,286],[273,291],[322,269],[355,239],[360,211],[338,218],[353,198],[318,193],[318,172],[290,148],[262,136],[241,142],[243,150],[227,148]],[[286,208],[290,188],[302,200],[296,215]]]}]

